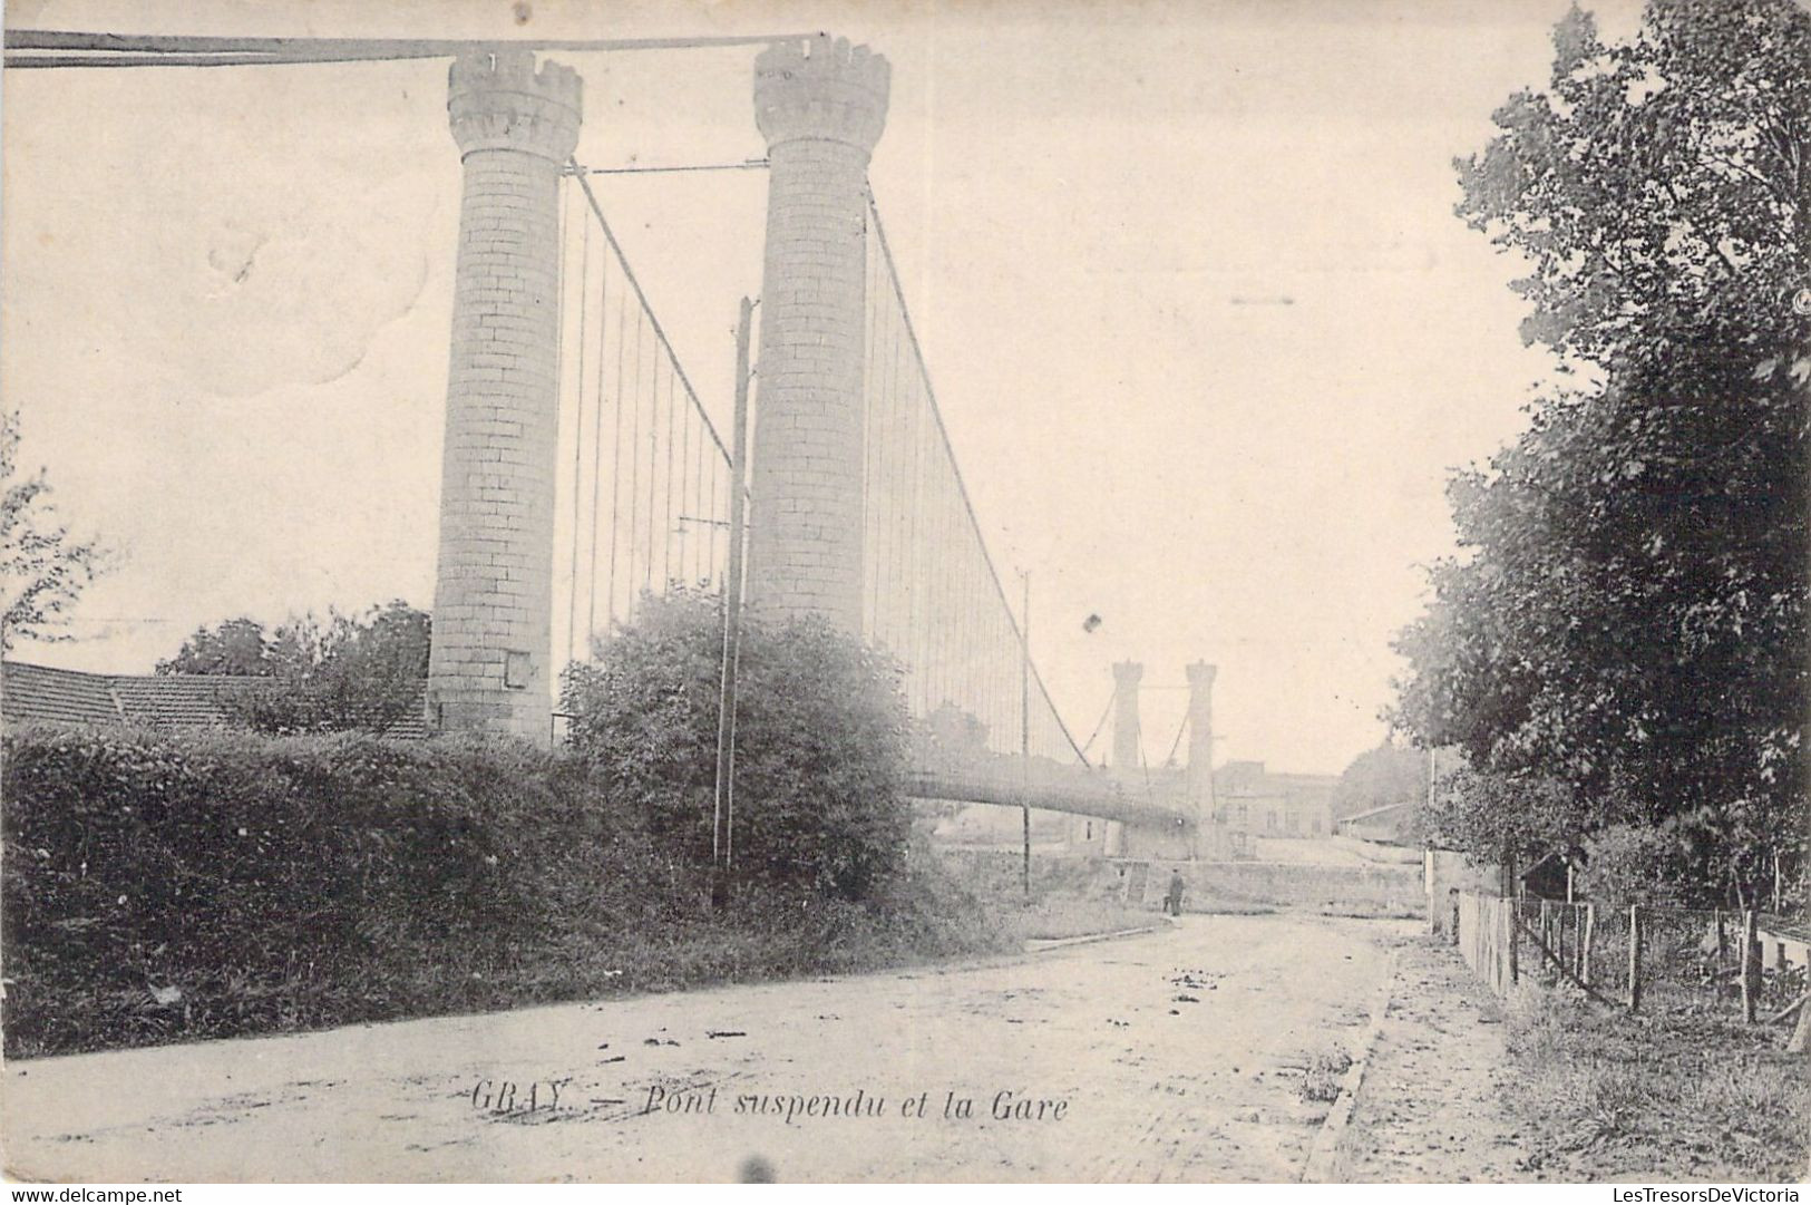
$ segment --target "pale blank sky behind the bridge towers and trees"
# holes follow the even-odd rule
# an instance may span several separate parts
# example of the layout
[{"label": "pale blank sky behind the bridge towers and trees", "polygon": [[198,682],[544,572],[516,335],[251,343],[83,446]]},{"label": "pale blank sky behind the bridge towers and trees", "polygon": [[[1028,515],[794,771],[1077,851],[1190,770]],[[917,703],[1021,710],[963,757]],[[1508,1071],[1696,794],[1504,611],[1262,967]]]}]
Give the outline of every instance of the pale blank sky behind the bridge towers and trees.
[{"label": "pale blank sky behind the bridge towers and trees", "polygon": [[[869,178],[987,544],[1030,573],[1058,710],[1085,739],[1108,667],[1143,661],[1161,761],[1206,660],[1217,761],[1337,774],[1384,737],[1391,636],[1454,551],[1447,473],[1514,437],[1550,371],[1518,337],[1518,263],[1452,216],[1452,159],[1547,80],[1565,7],[14,0],[5,20],[866,42],[893,63]],[[556,54],[585,82],[578,158],[762,156],[753,56]],[[118,551],[76,640],[13,656],[145,672],[237,614],[431,605],[446,62],[9,71],[0,156],[0,399],[60,516]],[[728,428],[764,174],[594,183]]]}]

